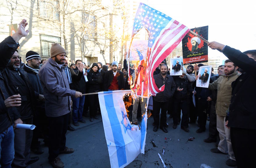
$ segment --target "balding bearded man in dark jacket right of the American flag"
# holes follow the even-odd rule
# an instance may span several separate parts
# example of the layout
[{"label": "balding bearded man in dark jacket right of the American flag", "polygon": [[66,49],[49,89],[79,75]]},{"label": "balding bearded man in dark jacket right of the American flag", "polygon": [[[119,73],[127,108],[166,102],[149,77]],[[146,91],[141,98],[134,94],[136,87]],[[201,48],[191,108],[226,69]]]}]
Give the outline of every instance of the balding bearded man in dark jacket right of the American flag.
[{"label": "balding bearded man in dark jacket right of the American flag", "polygon": [[153,96],[153,116],[154,116],[154,128],[153,131],[157,132],[159,127],[159,113],[161,109],[161,118],[160,118],[160,129],[163,132],[168,132],[165,128],[166,125],[166,112],[168,109],[168,103],[170,98],[173,96],[176,86],[173,80],[173,77],[167,74],[168,67],[166,64],[162,64],[160,67],[160,73],[154,75],[155,83],[158,88],[163,84],[165,85],[163,92],[157,93],[156,96]]}]

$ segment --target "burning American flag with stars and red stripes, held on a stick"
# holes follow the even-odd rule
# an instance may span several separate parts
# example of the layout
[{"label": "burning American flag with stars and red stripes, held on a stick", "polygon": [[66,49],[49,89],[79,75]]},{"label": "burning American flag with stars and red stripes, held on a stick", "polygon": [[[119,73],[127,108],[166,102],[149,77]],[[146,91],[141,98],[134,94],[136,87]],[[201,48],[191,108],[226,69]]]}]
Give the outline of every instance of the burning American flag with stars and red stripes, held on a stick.
[{"label": "burning American flag with stars and red stripes, held on a stick", "polygon": [[[166,14],[150,8],[144,3],[140,3],[134,18],[131,43],[134,35],[143,27],[147,30],[149,36],[146,73],[143,73],[148,74],[148,79],[145,76],[141,77],[138,75],[137,78],[147,79],[147,86],[143,85],[140,94],[145,95],[145,92],[148,91],[150,95],[155,96],[164,90],[164,85],[160,88],[157,87],[153,78],[154,70],[177,47],[190,29]],[[137,74],[140,74],[140,72],[137,72]]]}]

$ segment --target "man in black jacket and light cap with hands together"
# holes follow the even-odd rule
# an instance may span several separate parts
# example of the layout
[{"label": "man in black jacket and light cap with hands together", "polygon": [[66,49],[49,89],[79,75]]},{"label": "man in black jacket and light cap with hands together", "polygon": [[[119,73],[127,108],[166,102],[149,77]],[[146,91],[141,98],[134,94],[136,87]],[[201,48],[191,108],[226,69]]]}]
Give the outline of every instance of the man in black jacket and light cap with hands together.
[{"label": "man in black jacket and light cap with hands together", "polygon": [[174,114],[173,114],[173,129],[177,128],[177,125],[180,121],[180,111],[182,110],[182,119],[181,119],[181,129],[186,132],[189,132],[189,116],[188,116],[188,98],[190,93],[194,93],[189,79],[186,77],[186,70],[183,69],[181,76],[173,76],[176,90],[173,95],[174,100]]}]

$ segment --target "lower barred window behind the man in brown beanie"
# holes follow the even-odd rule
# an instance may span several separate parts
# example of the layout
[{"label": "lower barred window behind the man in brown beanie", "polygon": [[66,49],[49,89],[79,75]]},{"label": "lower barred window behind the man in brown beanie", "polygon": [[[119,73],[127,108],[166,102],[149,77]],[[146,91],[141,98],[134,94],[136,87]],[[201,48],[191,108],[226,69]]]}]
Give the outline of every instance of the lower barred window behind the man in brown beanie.
[{"label": "lower barred window behind the man in brown beanie", "polygon": [[50,49],[52,43],[59,43],[61,45],[61,38],[56,36],[49,36],[40,34],[41,53],[42,57],[50,57]]}]

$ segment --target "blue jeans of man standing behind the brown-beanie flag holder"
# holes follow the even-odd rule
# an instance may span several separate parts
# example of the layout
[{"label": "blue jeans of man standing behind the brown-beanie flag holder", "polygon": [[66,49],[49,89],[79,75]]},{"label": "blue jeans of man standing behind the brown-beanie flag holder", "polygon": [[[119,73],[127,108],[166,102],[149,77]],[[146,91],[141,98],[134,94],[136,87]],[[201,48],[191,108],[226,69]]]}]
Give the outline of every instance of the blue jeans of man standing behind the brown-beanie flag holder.
[{"label": "blue jeans of man standing behind the brown-beanie flag holder", "polygon": [[72,116],[73,116],[73,122],[77,122],[78,120],[83,119],[83,105],[84,105],[84,100],[85,96],[74,98],[72,97],[72,102],[73,102],[73,111],[72,111]]}]

